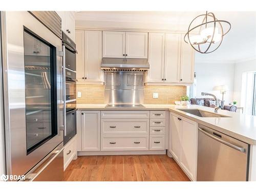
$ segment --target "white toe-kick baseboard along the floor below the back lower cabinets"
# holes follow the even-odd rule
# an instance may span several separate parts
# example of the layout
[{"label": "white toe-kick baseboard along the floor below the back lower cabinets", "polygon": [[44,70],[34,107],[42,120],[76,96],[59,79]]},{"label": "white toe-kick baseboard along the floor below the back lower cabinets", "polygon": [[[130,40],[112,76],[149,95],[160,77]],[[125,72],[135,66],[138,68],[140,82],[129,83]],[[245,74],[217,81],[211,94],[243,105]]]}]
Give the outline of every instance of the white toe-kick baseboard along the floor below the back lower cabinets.
[{"label": "white toe-kick baseboard along the floor below the back lower cabinets", "polygon": [[166,150],[156,151],[110,151],[110,152],[77,152],[78,156],[92,155],[165,155]]}]

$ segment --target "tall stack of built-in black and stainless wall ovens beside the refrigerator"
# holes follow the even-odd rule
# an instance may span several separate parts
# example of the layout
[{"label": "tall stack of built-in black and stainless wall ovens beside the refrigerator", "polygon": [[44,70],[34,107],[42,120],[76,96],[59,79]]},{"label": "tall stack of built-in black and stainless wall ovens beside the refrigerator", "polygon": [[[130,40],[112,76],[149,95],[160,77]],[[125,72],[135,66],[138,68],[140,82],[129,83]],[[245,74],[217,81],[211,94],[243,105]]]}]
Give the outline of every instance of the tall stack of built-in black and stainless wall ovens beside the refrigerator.
[{"label": "tall stack of built-in black and stainless wall ovens beside the refrigerator", "polygon": [[68,143],[76,135],[76,45],[62,32],[62,51],[63,59],[63,83],[65,98],[66,129],[64,132],[64,145]]}]

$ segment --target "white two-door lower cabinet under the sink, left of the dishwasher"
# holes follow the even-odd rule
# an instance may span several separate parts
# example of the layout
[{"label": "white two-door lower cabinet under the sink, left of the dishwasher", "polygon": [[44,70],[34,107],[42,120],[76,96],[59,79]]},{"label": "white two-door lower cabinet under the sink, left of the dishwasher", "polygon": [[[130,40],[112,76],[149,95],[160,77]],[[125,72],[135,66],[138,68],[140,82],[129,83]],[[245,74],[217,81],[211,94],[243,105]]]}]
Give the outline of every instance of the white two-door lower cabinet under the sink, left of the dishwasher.
[{"label": "white two-door lower cabinet under the sink, left of the dishwasher", "polygon": [[170,115],[169,151],[188,177],[196,181],[197,122],[174,113]]}]

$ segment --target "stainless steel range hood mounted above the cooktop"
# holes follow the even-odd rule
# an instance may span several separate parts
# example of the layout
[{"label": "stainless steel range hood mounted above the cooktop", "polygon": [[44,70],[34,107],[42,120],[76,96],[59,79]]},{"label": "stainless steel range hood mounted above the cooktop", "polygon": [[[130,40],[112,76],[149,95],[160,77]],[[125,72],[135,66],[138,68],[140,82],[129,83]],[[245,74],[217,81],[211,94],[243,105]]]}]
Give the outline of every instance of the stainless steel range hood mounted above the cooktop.
[{"label": "stainless steel range hood mounted above the cooktop", "polygon": [[102,58],[101,69],[105,71],[146,71],[147,59]]}]

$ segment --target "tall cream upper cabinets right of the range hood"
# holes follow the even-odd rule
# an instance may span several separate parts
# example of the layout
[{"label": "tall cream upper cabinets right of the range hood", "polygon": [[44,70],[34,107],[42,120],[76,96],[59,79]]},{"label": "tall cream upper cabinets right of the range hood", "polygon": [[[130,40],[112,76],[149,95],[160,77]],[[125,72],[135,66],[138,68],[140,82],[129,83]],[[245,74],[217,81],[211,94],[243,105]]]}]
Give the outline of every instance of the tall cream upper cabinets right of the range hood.
[{"label": "tall cream upper cabinets right of the range hood", "polygon": [[150,70],[145,76],[148,84],[193,83],[193,48],[183,40],[183,34],[149,33],[148,62]]}]

